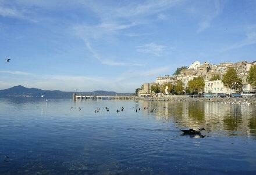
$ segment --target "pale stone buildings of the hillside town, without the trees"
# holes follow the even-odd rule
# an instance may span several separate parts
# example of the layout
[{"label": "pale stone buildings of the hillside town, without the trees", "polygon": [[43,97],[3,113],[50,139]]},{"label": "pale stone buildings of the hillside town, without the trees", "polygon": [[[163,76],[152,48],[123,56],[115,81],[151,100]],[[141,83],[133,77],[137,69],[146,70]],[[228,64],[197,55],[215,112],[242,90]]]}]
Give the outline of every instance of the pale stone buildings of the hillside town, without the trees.
[{"label": "pale stone buildings of the hillside town, without the trees", "polygon": [[[250,91],[253,90],[253,87],[250,83],[247,82],[247,75],[248,71],[250,70],[251,65],[256,65],[256,61],[252,63],[248,63],[247,61],[240,61],[237,63],[220,63],[220,64],[210,64],[210,63],[200,63],[200,61],[195,61],[185,70],[181,70],[179,75],[165,75],[165,76],[158,76],[156,81],[153,83],[144,83],[143,89],[141,89],[138,94],[140,96],[148,96],[152,94],[151,86],[157,83],[158,85],[163,85],[164,83],[172,83],[175,84],[177,80],[183,82],[184,85],[184,92],[187,89],[187,83],[194,79],[195,77],[202,76],[205,81],[204,92],[205,93],[232,93],[234,92],[233,89],[228,89],[225,87],[221,81],[223,75],[226,71],[233,67],[236,70],[237,75],[240,79],[242,79],[242,89],[243,91]],[[221,79],[217,79],[215,81],[210,81],[210,79],[215,76],[219,75]],[[236,85],[234,85],[236,87]],[[166,87],[168,88],[168,87]],[[165,89],[166,94],[168,94],[168,89]]]}]

